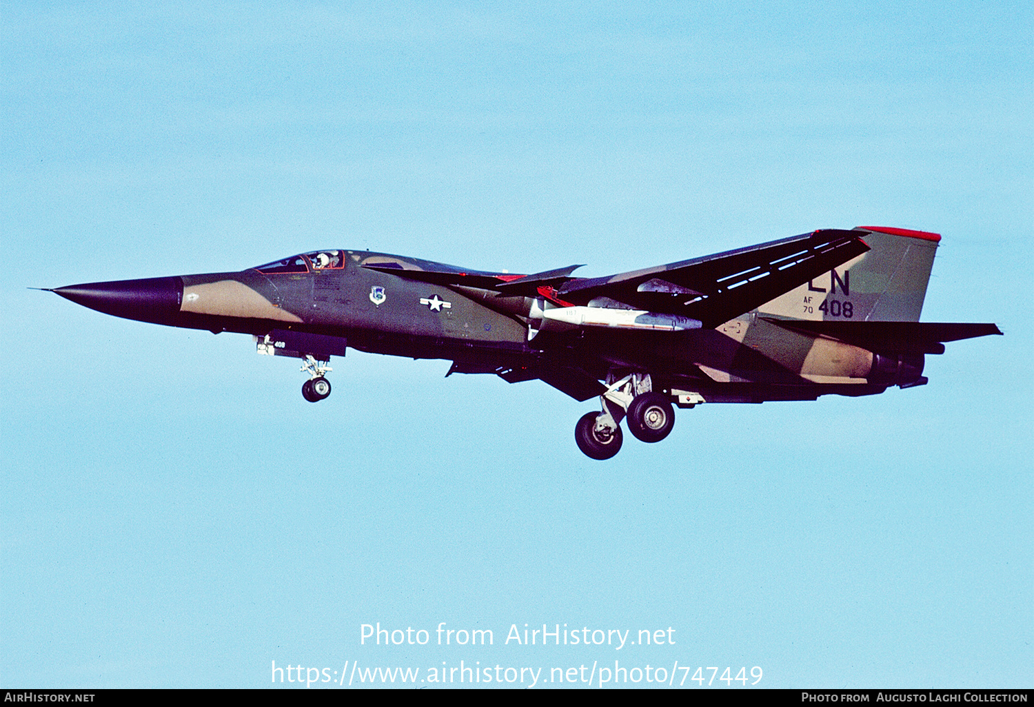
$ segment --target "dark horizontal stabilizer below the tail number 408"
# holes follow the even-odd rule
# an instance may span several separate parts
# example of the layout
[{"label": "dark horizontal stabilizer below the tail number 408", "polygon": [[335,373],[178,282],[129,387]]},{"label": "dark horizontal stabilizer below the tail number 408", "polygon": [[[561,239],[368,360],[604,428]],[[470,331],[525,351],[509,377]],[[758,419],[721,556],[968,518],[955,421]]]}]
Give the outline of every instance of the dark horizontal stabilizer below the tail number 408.
[{"label": "dark horizontal stabilizer below the tail number 408", "polygon": [[993,324],[933,321],[804,321],[762,317],[766,321],[812,336],[827,336],[871,351],[943,354],[945,341],[1001,334]]}]

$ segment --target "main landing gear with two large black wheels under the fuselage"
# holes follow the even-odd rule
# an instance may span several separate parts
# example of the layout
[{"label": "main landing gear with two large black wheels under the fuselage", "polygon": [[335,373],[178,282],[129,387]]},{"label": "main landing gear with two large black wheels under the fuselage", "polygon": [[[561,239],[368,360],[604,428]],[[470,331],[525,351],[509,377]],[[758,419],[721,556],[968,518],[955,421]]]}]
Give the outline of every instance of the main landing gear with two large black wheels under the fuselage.
[{"label": "main landing gear with two large black wheels under the fuselage", "polygon": [[675,425],[675,410],[669,396],[652,391],[648,373],[631,373],[608,382],[607,392],[600,396],[603,411],[586,412],[575,425],[575,442],[585,456],[610,459],[617,454],[621,418],[628,418],[629,432],[640,441],[659,442],[668,436]]}]

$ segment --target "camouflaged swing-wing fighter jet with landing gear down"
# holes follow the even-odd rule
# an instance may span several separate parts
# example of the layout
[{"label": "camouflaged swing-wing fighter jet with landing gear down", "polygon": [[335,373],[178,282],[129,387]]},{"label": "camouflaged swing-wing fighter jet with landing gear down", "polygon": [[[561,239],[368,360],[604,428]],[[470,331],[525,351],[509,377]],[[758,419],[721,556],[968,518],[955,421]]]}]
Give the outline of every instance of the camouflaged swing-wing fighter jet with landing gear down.
[{"label": "camouflaged swing-wing fighter jet with landing gear down", "polygon": [[252,335],[258,354],[296,357],[302,395],[331,392],[330,357],[362,351],[452,361],[453,373],[540,379],[600,410],[578,448],[609,459],[620,423],[645,442],[674,409],[816,400],[925,385],[944,342],[993,324],[919,322],[941,237],[821,229],[610,277],[580,266],[530,275],[360,250],[315,250],[241,272],[58,287],[107,314]]}]

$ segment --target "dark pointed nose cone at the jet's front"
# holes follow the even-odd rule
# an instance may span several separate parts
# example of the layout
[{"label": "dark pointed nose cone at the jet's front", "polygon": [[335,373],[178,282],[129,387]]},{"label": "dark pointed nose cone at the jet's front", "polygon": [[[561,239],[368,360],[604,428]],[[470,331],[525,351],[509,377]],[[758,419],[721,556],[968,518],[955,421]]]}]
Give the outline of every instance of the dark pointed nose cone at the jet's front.
[{"label": "dark pointed nose cone at the jet's front", "polygon": [[57,287],[53,291],[75,304],[127,319],[171,324],[180,311],[183,279],[152,277],[144,280],[90,282]]}]

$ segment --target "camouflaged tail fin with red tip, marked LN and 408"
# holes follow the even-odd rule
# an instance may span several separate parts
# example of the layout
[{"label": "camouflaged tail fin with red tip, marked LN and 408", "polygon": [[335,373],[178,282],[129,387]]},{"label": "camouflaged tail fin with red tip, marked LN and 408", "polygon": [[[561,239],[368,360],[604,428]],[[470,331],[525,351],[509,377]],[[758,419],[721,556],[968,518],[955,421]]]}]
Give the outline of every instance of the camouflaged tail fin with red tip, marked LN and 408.
[{"label": "camouflaged tail fin with red tip, marked LN and 408", "polygon": [[871,250],[758,307],[816,321],[918,321],[939,234],[858,226]]}]

